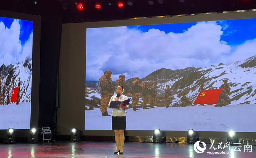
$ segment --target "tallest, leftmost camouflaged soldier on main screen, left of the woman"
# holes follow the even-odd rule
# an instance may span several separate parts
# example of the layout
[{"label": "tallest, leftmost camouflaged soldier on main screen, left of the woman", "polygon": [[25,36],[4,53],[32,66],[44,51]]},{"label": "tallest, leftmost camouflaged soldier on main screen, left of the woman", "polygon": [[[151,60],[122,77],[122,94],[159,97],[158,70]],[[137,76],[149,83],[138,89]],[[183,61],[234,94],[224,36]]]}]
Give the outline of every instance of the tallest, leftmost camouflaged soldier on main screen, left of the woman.
[{"label": "tallest, leftmost camouflaged soldier on main screen, left of the woman", "polygon": [[108,102],[113,96],[115,92],[115,85],[113,84],[113,81],[111,79],[112,72],[111,71],[105,71],[104,75],[102,75],[99,79],[100,81],[100,111],[102,113],[102,116],[110,116],[108,115]]}]

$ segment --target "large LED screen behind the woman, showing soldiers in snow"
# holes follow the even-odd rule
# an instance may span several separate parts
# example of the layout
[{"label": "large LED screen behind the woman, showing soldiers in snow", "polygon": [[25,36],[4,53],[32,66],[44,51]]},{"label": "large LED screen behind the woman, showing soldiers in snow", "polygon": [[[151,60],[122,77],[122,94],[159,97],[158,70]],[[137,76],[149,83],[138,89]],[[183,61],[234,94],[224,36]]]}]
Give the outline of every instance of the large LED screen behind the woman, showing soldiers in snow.
[{"label": "large LED screen behind the woman, showing soldiers in snow", "polygon": [[85,130],[111,130],[121,84],[126,130],[255,132],[255,30],[256,19],[87,28]]}]

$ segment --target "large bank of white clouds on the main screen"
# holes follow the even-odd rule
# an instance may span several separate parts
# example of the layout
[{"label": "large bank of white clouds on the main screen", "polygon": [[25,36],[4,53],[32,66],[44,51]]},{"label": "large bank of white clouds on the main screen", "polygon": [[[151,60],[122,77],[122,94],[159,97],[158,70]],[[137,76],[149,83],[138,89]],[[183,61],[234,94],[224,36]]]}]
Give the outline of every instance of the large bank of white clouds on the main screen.
[{"label": "large bank of white clouds on the main screen", "polygon": [[[223,56],[230,56],[231,47],[221,41],[223,30],[216,21],[198,22],[178,34],[154,28],[144,33],[127,27],[88,29],[86,80],[98,80],[105,70],[111,70],[116,80],[125,73],[129,75],[126,79],[142,78],[162,67],[208,67],[228,62]],[[248,45],[253,44],[248,42],[244,47]],[[234,60],[241,56],[239,50],[244,48],[237,47]]]}]

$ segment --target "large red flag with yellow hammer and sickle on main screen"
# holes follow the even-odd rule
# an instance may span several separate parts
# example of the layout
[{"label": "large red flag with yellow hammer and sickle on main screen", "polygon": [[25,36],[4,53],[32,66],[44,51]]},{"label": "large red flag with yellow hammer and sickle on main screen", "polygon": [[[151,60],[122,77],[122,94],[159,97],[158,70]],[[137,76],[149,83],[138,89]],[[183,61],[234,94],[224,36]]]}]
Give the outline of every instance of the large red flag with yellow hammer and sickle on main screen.
[{"label": "large red flag with yellow hammer and sickle on main screen", "polygon": [[222,89],[200,91],[194,104],[216,104]]}]

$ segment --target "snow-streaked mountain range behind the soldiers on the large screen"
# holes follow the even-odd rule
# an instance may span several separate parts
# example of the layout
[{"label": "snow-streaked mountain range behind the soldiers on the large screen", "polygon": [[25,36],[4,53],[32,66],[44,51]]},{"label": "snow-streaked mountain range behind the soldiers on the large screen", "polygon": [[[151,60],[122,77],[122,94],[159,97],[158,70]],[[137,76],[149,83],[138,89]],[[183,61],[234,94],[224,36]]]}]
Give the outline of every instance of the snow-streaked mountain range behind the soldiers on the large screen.
[{"label": "snow-streaked mountain range behind the soldiers on the large screen", "polygon": [[[200,84],[204,83],[205,90],[219,89],[223,80],[227,79],[230,85],[229,97],[230,105],[238,104],[256,104],[256,56],[252,56],[244,61],[237,61],[230,65],[220,63],[210,67],[187,67],[184,69],[171,70],[168,68],[158,69],[140,82],[148,81],[156,83],[157,87],[157,107],[164,107],[164,89],[170,85],[173,100],[170,106],[179,106],[180,98],[185,93],[190,101],[194,102],[198,93]],[[126,80],[131,86],[133,78]],[[115,82],[115,81],[113,81]],[[95,83],[95,82],[94,82]],[[96,91],[94,83],[86,81],[86,107],[100,107],[100,93]],[[90,86],[89,86],[90,85]],[[131,96],[128,96],[131,98]],[[140,98],[139,105],[142,99]],[[194,104],[193,104],[194,105]],[[199,105],[198,105],[199,106]],[[214,105],[208,105],[214,106]]]}]

